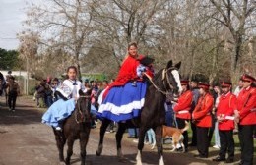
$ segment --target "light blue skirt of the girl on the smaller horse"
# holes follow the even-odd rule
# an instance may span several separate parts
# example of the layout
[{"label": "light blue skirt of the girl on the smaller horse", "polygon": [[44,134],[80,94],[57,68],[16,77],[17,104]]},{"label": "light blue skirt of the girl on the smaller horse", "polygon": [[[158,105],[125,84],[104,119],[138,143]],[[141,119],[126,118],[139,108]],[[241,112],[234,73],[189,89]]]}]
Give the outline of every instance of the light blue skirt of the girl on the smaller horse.
[{"label": "light blue skirt of the girl on the smaller horse", "polygon": [[69,117],[75,110],[75,99],[64,101],[59,99],[54,102],[42,116],[42,123],[58,127],[59,122]]}]

